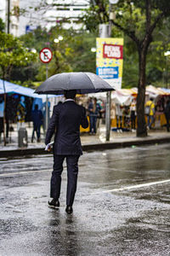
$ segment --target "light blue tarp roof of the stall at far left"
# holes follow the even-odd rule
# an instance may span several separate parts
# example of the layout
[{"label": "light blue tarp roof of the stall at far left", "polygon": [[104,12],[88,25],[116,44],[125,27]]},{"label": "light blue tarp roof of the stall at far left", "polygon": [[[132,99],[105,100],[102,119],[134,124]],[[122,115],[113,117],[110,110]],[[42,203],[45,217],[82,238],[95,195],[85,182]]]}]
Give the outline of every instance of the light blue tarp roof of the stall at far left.
[{"label": "light blue tarp roof of the stall at far left", "polygon": [[[35,90],[33,90],[31,88],[20,86],[18,84],[13,84],[8,81],[4,81],[4,84],[5,84],[5,92],[6,93],[17,93],[17,94],[29,96],[32,98],[41,98],[41,99],[46,98],[46,95],[38,95],[37,93],[34,93]],[[0,94],[3,94],[3,93],[4,93],[3,80],[0,79]],[[50,96],[48,95],[48,97],[50,97]]]}]

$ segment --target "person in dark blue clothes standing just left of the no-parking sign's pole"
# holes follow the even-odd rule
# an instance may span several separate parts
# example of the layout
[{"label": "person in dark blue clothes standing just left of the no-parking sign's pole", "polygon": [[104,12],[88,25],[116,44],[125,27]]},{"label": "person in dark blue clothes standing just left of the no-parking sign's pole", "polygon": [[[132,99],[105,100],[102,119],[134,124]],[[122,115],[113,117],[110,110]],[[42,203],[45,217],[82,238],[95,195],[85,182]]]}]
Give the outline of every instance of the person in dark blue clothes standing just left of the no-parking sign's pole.
[{"label": "person in dark blue clothes standing just left of the no-parking sign's pole", "polygon": [[31,143],[34,141],[34,133],[36,131],[37,133],[37,143],[40,143],[40,130],[41,130],[41,125],[43,122],[43,115],[42,111],[38,109],[38,105],[35,105],[34,110],[31,113],[31,119],[33,122],[33,131],[32,131],[32,136],[31,136]]}]

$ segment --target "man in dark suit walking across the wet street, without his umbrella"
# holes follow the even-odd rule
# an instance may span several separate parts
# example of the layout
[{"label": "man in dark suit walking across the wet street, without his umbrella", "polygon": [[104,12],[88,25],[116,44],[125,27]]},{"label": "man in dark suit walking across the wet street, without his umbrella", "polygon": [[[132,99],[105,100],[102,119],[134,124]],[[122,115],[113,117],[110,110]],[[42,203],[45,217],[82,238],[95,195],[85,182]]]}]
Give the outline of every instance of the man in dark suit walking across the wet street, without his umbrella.
[{"label": "man in dark suit walking across the wet street, without his umbrella", "polygon": [[72,205],[77,190],[78,159],[82,154],[80,125],[88,128],[86,109],[75,102],[76,90],[65,91],[65,102],[54,106],[53,115],[48,125],[46,145],[54,137],[54,171],[52,172],[49,207],[59,207],[61,174],[63,161],[67,164],[67,192],[65,212],[73,212]]}]

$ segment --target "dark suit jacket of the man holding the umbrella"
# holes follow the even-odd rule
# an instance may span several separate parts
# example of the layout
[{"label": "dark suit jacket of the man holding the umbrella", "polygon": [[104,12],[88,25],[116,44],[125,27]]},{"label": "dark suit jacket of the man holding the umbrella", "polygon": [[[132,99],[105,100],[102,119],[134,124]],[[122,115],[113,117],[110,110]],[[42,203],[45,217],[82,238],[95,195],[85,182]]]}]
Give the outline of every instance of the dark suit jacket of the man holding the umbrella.
[{"label": "dark suit jacket of the man holding the umbrella", "polygon": [[67,101],[54,106],[53,115],[46,134],[46,145],[50,143],[51,137],[56,129],[54,154],[82,154],[80,125],[83,128],[88,128],[85,108],[77,105],[73,101]]}]

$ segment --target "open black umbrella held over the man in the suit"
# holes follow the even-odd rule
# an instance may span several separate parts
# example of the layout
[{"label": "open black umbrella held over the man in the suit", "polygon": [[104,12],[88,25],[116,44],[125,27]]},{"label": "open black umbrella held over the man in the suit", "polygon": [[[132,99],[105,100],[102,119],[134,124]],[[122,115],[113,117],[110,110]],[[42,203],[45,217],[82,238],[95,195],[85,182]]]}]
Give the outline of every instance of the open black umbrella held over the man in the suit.
[{"label": "open black umbrella held over the man in the suit", "polygon": [[55,74],[44,81],[35,92],[61,95],[65,90],[77,90],[77,94],[87,94],[115,89],[94,73],[72,72]]}]

